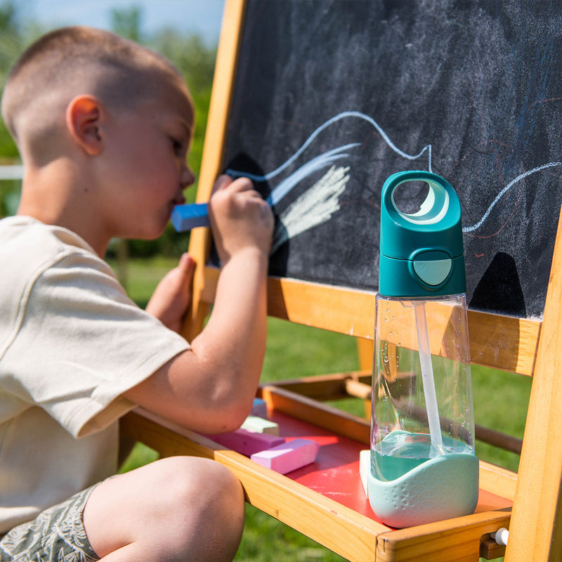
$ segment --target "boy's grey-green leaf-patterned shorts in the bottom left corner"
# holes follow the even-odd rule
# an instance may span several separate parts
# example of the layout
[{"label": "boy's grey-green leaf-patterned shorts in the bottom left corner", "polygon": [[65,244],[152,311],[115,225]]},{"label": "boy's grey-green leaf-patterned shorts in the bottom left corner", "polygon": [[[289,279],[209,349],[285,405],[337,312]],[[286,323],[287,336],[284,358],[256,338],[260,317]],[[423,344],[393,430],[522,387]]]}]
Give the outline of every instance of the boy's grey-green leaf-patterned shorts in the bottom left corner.
[{"label": "boy's grey-green leaf-patterned shorts in the bottom left corner", "polygon": [[0,562],[91,562],[99,560],[82,522],[92,488],[14,527],[0,540]]}]

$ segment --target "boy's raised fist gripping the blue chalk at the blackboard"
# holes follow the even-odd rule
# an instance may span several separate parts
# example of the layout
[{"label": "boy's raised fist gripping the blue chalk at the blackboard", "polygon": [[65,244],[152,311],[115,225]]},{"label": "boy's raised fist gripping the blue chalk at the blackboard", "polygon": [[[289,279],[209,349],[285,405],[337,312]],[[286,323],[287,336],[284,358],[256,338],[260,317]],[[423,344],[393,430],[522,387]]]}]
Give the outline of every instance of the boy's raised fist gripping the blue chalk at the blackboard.
[{"label": "boy's raised fist gripping the blue chalk at the blackboard", "polygon": [[248,178],[218,177],[209,201],[209,218],[223,265],[242,249],[253,247],[269,254],[273,212]]}]

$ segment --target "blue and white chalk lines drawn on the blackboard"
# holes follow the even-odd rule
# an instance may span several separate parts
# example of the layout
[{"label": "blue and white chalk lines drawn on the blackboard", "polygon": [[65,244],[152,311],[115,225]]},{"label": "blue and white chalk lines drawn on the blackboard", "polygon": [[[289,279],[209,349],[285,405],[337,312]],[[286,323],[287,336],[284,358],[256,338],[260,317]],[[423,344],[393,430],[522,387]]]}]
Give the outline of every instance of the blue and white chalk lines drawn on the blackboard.
[{"label": "blue and white chalk lines drawn on the blackboard", "polygon": [[[416,160],[420,158],[422,155],[426,154],[427,156],[427,170],[432,171],[431,169],[431,152],[432,152],[432,145],[426,145],[424,148],[421,149],[415,155],[409,155],[403,150],[400,150],[388,137],[382,127],[368,115],[358,111],[346,111],[341,112],[339,115],[328,119],[325,123],[320,125],[318,129],[315,129],[311,136],[306,139],[306,142],[301,145],[301,148],[297,150],[292,157],[287,159],[287,161],[279,166],[277,169],[270,171],[268,174],[263,176],[258,176],[255,174],[248,174],[244,171],[237,171],[233,169],[229,169],[226,171],[227,174],[233,177],[240,177],[246,176],[253,181],[270,181],[271,179],[277,177],[283,171],[285,171],[289,166],[296,162],[303,152],[315,141],[315,138],[318,137],[322,131],[325,131],[329,126],[332,126],[334,123],[341,121],[341,119],[348,119],[350,117],[363,119],[370,123],[374,129],[377,130],[383,141],[388,145],[391,150],[396,152],[400,157],[403,157],[407,160]],[[346,183],[348,182],[349,175],[347,172],[349,171],[349,167],[337,167],[334,166],[334,162],[340,159],[344,159],[349,156],[349,152],[354,148],[360,146],[360,143],[350,143],[347,145],[340,146],[338,148],[334,148],[323,154],[314,157],[306,164],[303,164],[299,169],[294,171],[290,174],[287,178],[281,181],[271,192],[267,198],[267,202],[270,205],[275,205],[280,200],[282,200],[285,195],[287,195],[296,185],[301,183],[305,178],[311,176],[311,174],[319,171],[321,169],[327,168],[331,166],[327,174],[320,179],[317,183],[315,183],[311,188],[308,188],[307,192],[301,195],[296,201],[294,201],[289,209],[286,209],[280,218],[280,224],[275,231],[274,235],[274,242],[272,251],[275,251],[280,244],[283,242],[290,240],[292,237],[299,235],[314,226],[318,226],[319,224],[325,223],[329,221],[332,217],[332,214],[339,210],[339,197],[345,191]],[[495,200],[492,201],[490,207],[485,211],[482,218],[474,223],[471,226],[464,226],[462,229],[464,233],[471,233],[474,230],[480,228],[483,223],[486,221],[492,209],[497,205],[499,200],[511,189],[513,188],[516,183],[519,181],[524,180],[528,176],[532,174],[536,174],[537,172],[543,171],[544,169],[548,169],[554,166],[562,166],[562,162],[549,162],[548,164],[543,164],[542,166],[537,166],[532,170],[526,171],[524,174],[520,174],[514,180],[510,181],[495,197]],[[277,236],[277,237],[275,237]]]}]

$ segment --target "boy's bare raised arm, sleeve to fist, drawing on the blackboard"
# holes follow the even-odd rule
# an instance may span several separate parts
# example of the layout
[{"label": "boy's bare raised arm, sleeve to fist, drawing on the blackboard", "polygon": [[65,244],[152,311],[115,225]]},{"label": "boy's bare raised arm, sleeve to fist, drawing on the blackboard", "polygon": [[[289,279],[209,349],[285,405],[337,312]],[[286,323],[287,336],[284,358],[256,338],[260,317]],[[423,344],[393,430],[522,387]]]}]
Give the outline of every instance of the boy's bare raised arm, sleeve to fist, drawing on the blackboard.
[{"label": "boy's bare raised arm, sleeve to fist, drawing on the blackboard", "polygon": [[222,266],[209,322],[188,351],[125,396],[195,431],[218,433],[242,424],[259,382],[273,215],[249,180],[221,176],[209,218]]}]

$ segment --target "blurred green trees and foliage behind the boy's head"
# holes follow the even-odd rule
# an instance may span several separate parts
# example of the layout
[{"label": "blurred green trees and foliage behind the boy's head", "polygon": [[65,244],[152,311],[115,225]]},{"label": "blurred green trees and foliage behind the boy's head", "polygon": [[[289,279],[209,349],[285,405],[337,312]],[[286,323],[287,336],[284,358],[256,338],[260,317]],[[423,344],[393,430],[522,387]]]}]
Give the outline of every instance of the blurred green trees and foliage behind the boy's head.
[{"label": "blurred green trees and foliage behind the boy's head", "polygon": [[[37,22],[23,18],[20,6],[15,0],[0,4],[0,87],[3,88],[10,69],[22,53],[47,29]],[[162,28],[154,34],[143,34],[143,11],[137,6],[112,10],[112,30],[128,39],[133,39],[154,51],[162,53],[178,68],[188,84],[195,103],[196,127],[189,164],[195,175],[199,175],[203,154],[207,115],[213,84],[216,46],[207,46],[203,39],[194,34],[183,34],[175,29]],[[4,122],[0,121],[0,164],[19,163],[18,150]],[[12,214],[17,207],[19,182],[0,182],[0,216]],[[188,202],[195,200],[197,186],[185,192]],[[130,256],[178,256],[188,248],[189,235],[178,235],[169,225],[158,240],[129,241]],[[115,255],[116,244],[109,250]]]}]

